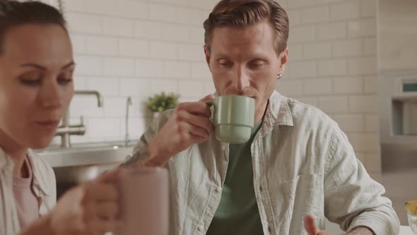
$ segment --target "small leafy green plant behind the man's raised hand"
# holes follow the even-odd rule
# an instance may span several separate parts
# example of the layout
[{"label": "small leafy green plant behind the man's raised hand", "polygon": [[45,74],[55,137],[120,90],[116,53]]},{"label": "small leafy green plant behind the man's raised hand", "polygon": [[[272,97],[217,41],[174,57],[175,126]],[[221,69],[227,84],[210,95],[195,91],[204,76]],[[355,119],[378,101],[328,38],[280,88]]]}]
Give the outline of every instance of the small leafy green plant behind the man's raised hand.
[{"label": "small leafy green plant behind the man's raised hand", "polygon": [[153,113],[153,117],[158,116],[165,110],[177,107],[180,95],[175,93],[167,94],[161,92],[148,98],[148,109]]}]

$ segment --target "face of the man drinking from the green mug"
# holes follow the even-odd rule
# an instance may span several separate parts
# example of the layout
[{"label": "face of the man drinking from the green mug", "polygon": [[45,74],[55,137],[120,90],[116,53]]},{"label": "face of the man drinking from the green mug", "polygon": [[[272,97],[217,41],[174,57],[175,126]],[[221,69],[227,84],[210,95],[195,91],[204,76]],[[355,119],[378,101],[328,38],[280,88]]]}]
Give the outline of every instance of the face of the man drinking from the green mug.
[{"label": "face of the man drinking from the green mug", "polygon": [[215,28],[211,51],[204,51],[218,95],[254,98],[258,122],[288,57],[288,49],[276,55],[271,25],[261,22],[246,28]]}]

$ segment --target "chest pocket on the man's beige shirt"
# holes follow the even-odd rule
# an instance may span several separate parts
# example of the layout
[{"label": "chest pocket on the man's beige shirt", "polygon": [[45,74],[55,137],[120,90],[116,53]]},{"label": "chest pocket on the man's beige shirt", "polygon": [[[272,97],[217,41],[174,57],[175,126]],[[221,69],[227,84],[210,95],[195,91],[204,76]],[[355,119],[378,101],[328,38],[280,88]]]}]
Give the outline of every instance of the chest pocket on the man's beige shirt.
[{"label": "chest pocket on the man's beige shirt", "polygon": [[319,174],[298,175],[282,183],[286,234],[306,234],[304,216],[307,214],[315,217],[317,226],[324,229],[323,188],[323,178]]}]

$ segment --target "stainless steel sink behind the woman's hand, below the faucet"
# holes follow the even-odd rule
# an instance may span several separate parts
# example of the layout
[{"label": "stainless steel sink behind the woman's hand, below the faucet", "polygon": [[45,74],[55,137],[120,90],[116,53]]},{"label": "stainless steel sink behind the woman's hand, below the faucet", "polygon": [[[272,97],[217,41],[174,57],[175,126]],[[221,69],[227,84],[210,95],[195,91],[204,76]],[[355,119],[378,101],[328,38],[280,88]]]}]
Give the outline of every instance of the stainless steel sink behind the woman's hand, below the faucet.
[{"label": "stainless steel sink behind the woman's hand, below the faucet", "polygon": [[69,188],[92,180],[103,171],[115,168],[131,154],[133,146],[119,144],[83,146],[70,149],[37,151],[54,169],[57,178],[57,197]]}]

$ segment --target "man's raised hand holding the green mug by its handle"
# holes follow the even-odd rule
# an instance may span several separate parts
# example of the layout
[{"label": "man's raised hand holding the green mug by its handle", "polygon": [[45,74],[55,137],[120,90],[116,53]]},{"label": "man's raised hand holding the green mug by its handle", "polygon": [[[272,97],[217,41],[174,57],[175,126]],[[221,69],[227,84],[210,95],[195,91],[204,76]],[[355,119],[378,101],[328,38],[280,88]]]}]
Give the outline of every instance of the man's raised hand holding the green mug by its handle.
[{"label": "man's raised hand holding the green mug by its handle", "polygon": [[198,102],[180,103],[168,122],[149,142],[149,161],[163,166],[171,156],[190,145],[206,142],[213,134],[214,127],[210,121],[210,107],[205,102],[213,98],[213,95],[209,95]]}]

